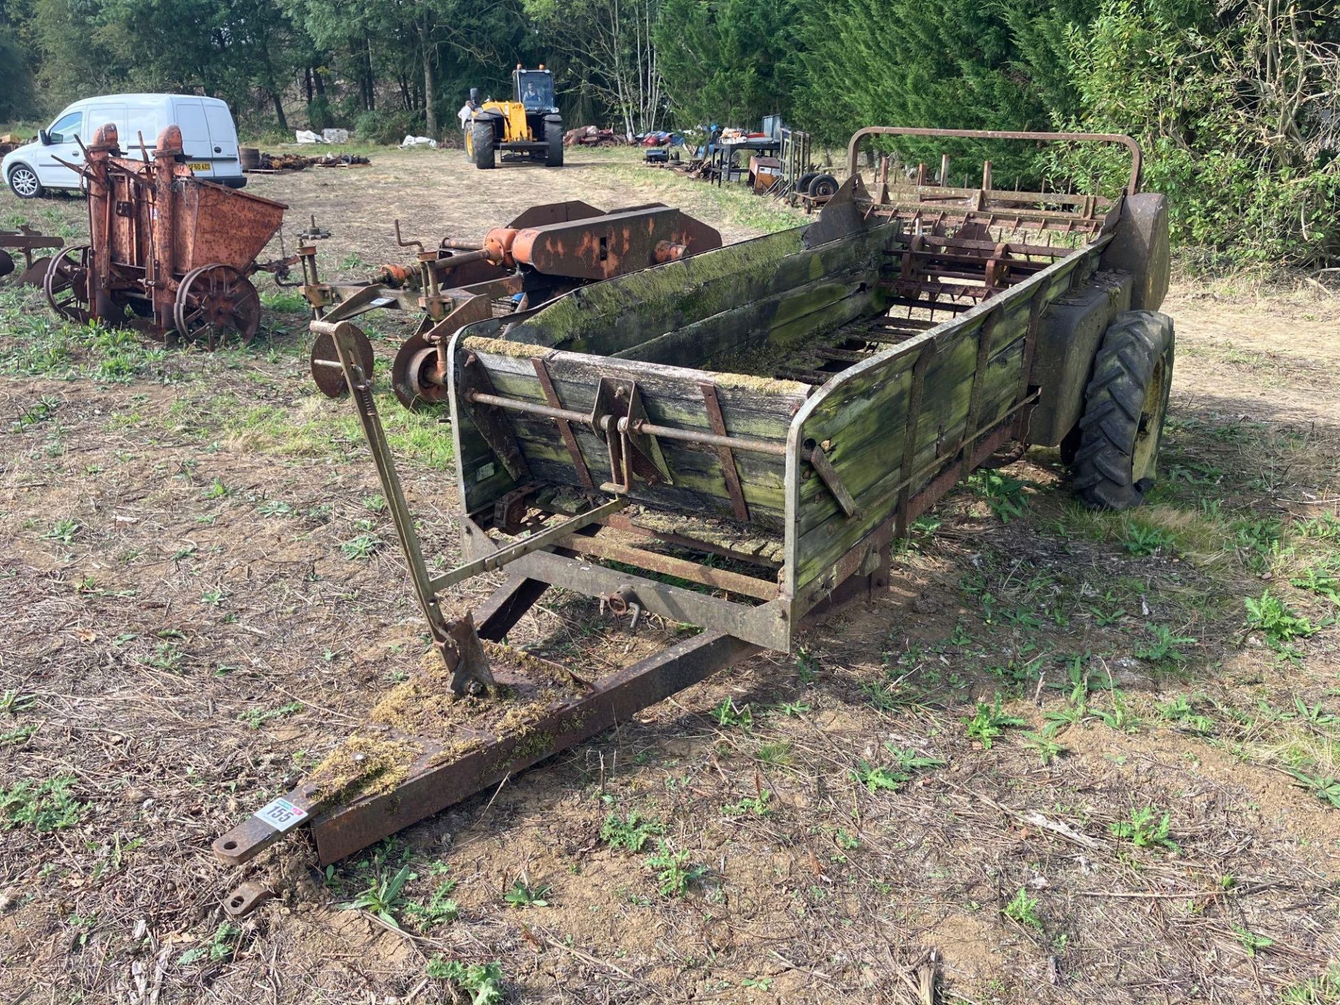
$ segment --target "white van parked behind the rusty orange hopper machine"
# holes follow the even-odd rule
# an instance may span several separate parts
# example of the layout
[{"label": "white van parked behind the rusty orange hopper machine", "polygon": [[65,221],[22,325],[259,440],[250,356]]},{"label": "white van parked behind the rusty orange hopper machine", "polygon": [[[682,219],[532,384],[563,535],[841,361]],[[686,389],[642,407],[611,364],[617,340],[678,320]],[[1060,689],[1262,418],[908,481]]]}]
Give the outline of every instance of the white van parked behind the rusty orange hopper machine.
[{"label": "white van parked behind the rusty orange hopper machine", "polygon": [[141,135],[153,155],[158,134],[177,125],[186,161],[198,177],[233,189],[247,184],[237,159],[237,126],[228,105],[218,98],[189,94],[110,94],[78,100],[56,115],[36,142],[7,154],[0,161],[0,177],[19,198],[36,198],[47,189],[78,189],[79,174],[60,161],[80,163],[83,151],[75,137],[88,145],[107,122],[117,126],[122,153],[137,158]]}]

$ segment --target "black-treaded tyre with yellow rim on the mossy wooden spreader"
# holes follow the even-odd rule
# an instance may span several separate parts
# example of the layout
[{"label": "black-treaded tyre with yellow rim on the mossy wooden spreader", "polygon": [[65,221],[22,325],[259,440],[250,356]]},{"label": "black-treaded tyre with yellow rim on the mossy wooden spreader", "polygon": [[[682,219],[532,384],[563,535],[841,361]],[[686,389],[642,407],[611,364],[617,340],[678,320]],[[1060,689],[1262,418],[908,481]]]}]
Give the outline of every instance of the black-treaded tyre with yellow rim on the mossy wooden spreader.
[{"label": "black-treaded tyre with yellow rim on the mossy wooden spreader", "polygon": [[1172,319],[1127,311],[1112,319],[1084,389],[1075,493],[1095,509],[1130,509],[1154,484],[1172,387]]}]

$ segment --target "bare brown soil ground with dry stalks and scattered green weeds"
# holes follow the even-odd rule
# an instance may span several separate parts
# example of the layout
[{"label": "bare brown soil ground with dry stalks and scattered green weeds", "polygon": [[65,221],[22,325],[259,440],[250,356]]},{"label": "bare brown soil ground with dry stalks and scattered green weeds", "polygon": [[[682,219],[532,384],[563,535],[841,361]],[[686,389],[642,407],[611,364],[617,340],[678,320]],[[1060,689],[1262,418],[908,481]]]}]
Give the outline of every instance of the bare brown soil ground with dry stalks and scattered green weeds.
[{"label": "bare brown soil ground with dry stalks and scattered green weeds", "polygon": [[[405,257],[397,216],[430,240],[559,198],[679,202],[728,239],[783,220],[598,154],[484,176],[387,151],[251,190],[291,232],[315,213],[347,277]],[[4,222],[74,236],[82,213],[0,196]],[[426,635],[348,405],[311,386],[300,304],[267,300],[257,344],[208,355],[0,291],[0,998],[485,1002],[485,972],[448,965],[496,962],[509,1001],[900,1002],[934,951],[943,1001],[1340,1001],[1333,297],[1175,288],[1142,511],[1077,509],[1034,450],[797,654],[328,871],[302,838],[243,870],[209,843]],[[450,561],[449,438],[383,397]],[[600,675],[673,635],[557,598],[513,642]],[[634,813],[639,851],[616,847]],[[279,896],[230,925],[244,878]],[[346,909],[370,890],[398,929]]]}]

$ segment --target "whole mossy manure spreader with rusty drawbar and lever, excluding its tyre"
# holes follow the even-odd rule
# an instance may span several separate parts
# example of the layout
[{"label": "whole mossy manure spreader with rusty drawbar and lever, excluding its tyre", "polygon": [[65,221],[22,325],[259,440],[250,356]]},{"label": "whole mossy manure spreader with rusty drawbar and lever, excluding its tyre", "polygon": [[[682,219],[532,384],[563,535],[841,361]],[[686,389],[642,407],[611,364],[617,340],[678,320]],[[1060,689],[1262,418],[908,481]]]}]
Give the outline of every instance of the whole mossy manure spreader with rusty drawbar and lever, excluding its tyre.
[{"label": "whole mossy manure spreader with rusty drawbar and lever, excluding its tyre", "polygon": [[[1012,445],[1073,452],[1104,334],[1123,312],[1154,318],[1167,287],[1166,204],[1139,193],[1138,147],[1108,135],[986,137],[1122,143],[1131,177],[1114,198],[997,190],[989,163],[980,189],[923,184],[921,169],[894,190],[887,159],[872,190],[855,170],[858,145],[879,133],[984,137],[863,130],[852,176],[808,226],[452,335],[465,561],[449,572],[427,572],[359,334],[347,320],[314,323],[339,351],[328,366],[354,391],[457,694],[519,679],[498,662],[505,647],[489,646],[549,587],[600,598],[634,624],[647,612],[702,628],[604,679],[555,667],[551,679],[574,691],[528,706],[515,730],[397,740],[415,753],[395,784],[385,773],[350,784],[347,772],[336,784],[318,769],[287,799],[315,817],[323,862],[736,661],[789,650],[805,624],[886,587],[894,540],[974,468]],[[1160,427],[1166,390],[1162,403],[1155,391]],[[453,586],[498,570],[507,582],[472,618],[444,615]],[[482,650],[461,643],[474,632]],[[256,816],[214,851],[243,863],[277,836]]]}]

